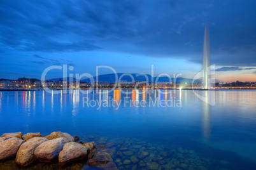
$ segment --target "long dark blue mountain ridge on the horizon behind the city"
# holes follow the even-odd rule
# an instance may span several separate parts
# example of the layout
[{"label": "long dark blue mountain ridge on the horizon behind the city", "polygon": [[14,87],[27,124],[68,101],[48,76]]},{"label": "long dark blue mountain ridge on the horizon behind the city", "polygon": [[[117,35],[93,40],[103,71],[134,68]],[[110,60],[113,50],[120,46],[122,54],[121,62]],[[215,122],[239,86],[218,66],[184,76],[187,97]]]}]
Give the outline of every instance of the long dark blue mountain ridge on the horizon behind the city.
[{"label": "long dark blue mountain ridge on the horizon behind the city", "polygon": [[[170,81],[174,81],[173,78],[171,78],[171,80],[169,79],[169,77],[167,76],[162,76],[162,77],[153,77],[152,79],[152,76],[150,74],[124,74],[124,73],[117,73],[117,78],[118,80],[120,79],[121,77],[121,81],[127,81],[127,82],[132,82],[132,78],[131,76],[133,77],[134,81],[148,81],[148,82],[170,82]],[[146,77],[148,77],[148,80],[146,79]],[[97,76],[94,76],[92,77],[94,79],[94,81],[98,80],[99,82],[115,82],[115,74],[103,74],[103,75],[99,75],[98,77]],[[97,79],[98,78],[98,79]],[[61,78],[60,79],[50,79],[51,81],[59,81],[59,80],[62,80]],[[73,78],[73,81],[75,81],[76,79]],[[68,81],[69,81],[69,77],[68,77]],[[85,82],[90,82],[90,79],[87,78],[87,79],[82,79],[81,81],[85,81]],[[192,83],[193,79],[186,79],[186,78],[183,78],[183,77],[178,77],[176,78],[176,82],[177,83]],[[200,80],[196,80],[194,81],[195,83],[197,82],[201,82]]]}]

